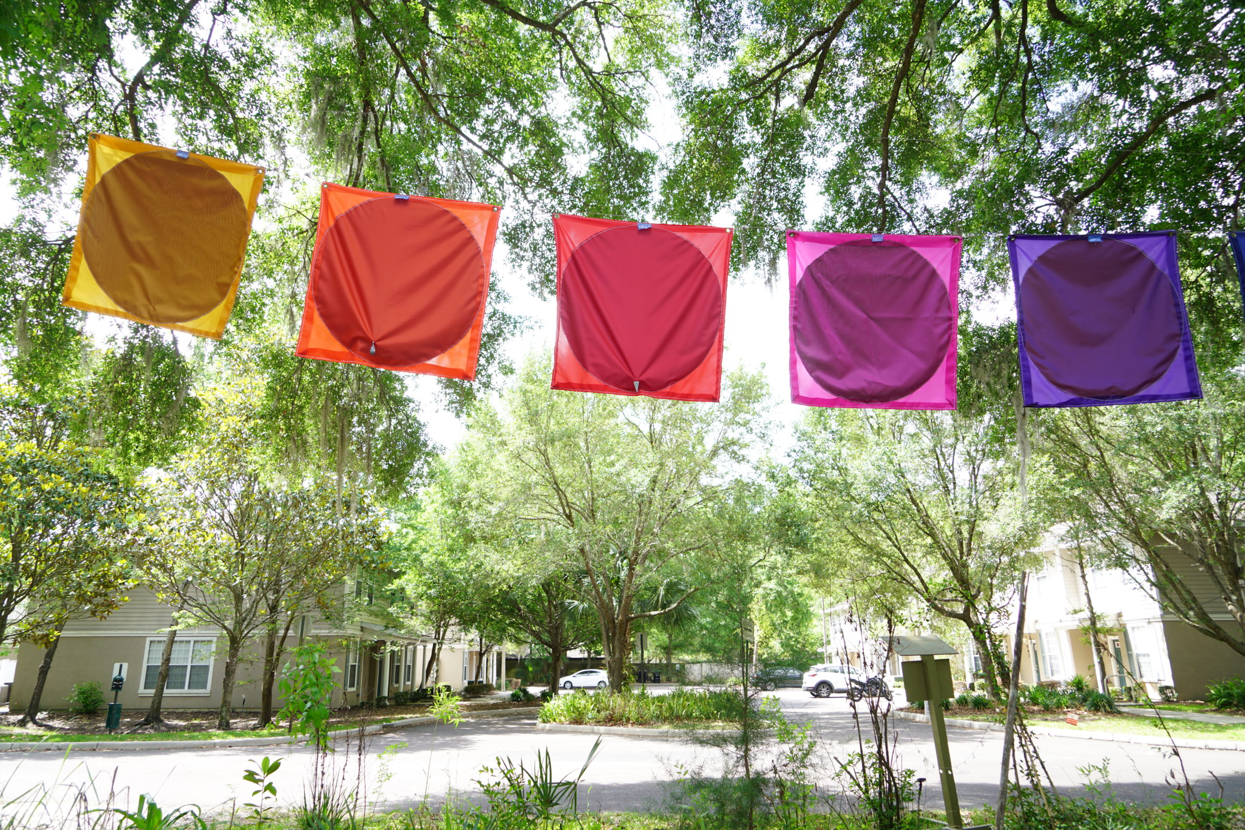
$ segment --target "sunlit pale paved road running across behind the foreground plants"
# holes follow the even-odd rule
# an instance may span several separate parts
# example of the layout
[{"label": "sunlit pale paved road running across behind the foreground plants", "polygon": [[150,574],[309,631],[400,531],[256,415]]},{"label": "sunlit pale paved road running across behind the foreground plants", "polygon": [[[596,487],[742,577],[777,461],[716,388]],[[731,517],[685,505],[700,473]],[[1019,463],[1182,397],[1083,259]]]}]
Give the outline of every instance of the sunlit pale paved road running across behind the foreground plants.
[{"label": "sunlit pale paved road running across behind the foreground plants", "polygon": [[[812,720],[825,742],[827,758],[854,752],[857,732],[850,708],[842,698],[815,699],[798,689],[777,692],[784,709]],[[457,729],[439,725],[396,729],[374,735],[365,762],[366,791],[385,806],[408,806],[426,798],[441,800],[447,793],[473,793],[479,769],[498,755],[532,763],[537,752],[549,750],[554,772],[578,772],[594,735],[538,732],[530,716],[464,722]],[[898,755],[903,765],[926,778],[925,804],[940,804],[937,768],[929,727],[894,719]],[[950,729],[951,753],[961,803],[977,806],[992,800],[998,780],[1001,733]],[[1106,764],[1116,791],[1129,800],[1165,803],[1164,778],[1175,769],[1170,750],[1137,744],[1116,744],[1074,738],[1040,737],[1038,747],[1056,784],[1081,791],[1084,776],[1078,768]],[[385,755],[380,753],[386,752]],[[26,788],[47,785],[60,793],[87,786],[93,800],[116,793],[132,803],[151,794],[166,806],[198,804],[219,808],[232,799],[249,800],[250,786],[242,781],[248,759],[279,755],[285,764],[275,783],[285,804],[298,804],[311,773],[312,753],[305,747],[240,747],[212,750],[127,750],[0,754],[0,803]],[[1245,800],[1245,753],[1182,750],[1195,784],[1218,794],[1213,770],[1231,800]],[[356,753],[345,748],[332,760],[332,778],[354,783]],[[584,778],[591,809],[645,810],[659,808],[675,768],[705,765],[712,770],[717,753],[680,739],[606,737],[601,752]]]}]

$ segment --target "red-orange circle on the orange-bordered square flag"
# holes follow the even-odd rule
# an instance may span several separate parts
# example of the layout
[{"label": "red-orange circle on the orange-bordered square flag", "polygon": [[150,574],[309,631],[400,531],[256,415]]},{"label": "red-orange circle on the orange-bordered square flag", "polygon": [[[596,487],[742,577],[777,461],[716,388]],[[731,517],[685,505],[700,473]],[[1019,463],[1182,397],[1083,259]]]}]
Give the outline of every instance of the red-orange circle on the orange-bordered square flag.
[{"label": "red-orange circle on the orange-bordered square flag", "polygon": [[337,217],[311,269],[324,325],[369,363],[403,367],[471,331],[488,274],[467,225],[411,197],[370,199]]}]

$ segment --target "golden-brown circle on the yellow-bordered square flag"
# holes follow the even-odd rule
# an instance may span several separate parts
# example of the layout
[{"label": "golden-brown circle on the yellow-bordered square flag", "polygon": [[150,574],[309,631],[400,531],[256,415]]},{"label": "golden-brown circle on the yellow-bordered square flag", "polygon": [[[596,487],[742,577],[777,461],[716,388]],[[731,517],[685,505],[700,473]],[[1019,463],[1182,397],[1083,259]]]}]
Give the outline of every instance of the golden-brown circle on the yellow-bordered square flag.
[{"label": "golden-brown circle on the yellow-bordered square flag", "polygon": [[82,207],[82,256],[125,311],[188,322],[229,295],[249,218],[229,179],[172,151],[137,153],[108,169]]}]

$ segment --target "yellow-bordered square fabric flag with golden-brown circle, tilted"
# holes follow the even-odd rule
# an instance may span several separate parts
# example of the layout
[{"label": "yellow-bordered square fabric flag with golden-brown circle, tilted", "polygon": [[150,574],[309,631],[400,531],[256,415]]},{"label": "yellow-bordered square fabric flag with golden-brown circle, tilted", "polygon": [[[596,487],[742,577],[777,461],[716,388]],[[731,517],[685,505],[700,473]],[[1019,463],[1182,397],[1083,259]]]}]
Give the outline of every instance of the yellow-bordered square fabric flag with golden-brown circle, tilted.
[{"label": "yellow-bordered square fabric flag with golden-brown circle, tilted", "polygon": [[264,168],[92,134],[67,306],[219,338]]}]

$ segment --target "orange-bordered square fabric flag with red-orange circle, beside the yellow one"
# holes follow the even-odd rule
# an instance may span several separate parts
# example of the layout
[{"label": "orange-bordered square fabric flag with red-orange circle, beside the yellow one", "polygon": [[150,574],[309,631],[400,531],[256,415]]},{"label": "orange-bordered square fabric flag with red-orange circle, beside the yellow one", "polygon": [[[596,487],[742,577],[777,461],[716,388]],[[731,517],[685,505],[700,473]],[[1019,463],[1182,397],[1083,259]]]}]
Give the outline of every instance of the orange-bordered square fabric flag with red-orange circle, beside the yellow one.
[{"label": "orange-bordered square fabric flag with red-orange circle, beside the yellow one", "polygon": [[498,210],[326,182],[296,352],[476,380]]}]

